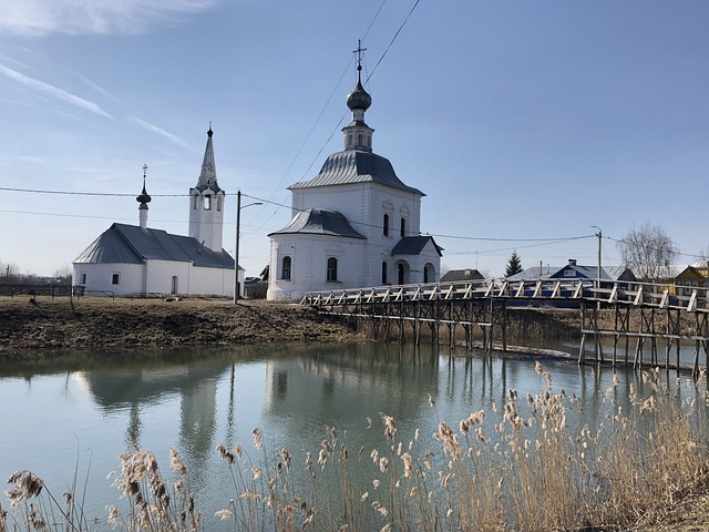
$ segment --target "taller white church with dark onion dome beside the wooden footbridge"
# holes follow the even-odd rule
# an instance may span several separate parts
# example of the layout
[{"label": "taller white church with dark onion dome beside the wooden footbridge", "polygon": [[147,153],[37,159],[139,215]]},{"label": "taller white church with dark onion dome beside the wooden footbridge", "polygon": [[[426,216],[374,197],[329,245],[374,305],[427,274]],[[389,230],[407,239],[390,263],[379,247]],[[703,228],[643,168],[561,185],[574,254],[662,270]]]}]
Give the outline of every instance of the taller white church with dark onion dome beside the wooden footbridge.
[{"label": "taller white church with dark onion dome beside the wooden footbridge", "polygon": [[361,63],[357,70],[357,85],[347,96],[352,121],[342,129],[343,150],[314,178],[289,187],[292,219],[268,235],[268,299],[439,282],[441,248],[420,231],[424,194],[373,153],[374,130],[364,122],[372,99],[362,86]]}]

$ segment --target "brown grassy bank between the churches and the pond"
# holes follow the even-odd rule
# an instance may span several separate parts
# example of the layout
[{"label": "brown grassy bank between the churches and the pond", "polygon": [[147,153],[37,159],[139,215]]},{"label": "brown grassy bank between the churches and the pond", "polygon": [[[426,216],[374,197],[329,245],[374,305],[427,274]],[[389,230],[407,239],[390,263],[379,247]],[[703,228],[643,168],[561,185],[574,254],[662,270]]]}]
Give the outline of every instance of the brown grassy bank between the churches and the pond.
[{"label": "brown grassy bank between the churches and the pond", "polygon": [[309,308],[264,300],[0,297],[0,358],[38,350],[360,339]]}]

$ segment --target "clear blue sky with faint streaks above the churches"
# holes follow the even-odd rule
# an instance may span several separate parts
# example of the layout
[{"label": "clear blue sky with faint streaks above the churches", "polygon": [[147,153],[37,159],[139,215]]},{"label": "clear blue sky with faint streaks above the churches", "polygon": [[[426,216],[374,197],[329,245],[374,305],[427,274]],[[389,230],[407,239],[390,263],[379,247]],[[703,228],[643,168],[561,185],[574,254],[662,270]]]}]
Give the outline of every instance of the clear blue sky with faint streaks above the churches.
[{"label": "clear blue sky with faint streaks above the churches", "polygon": [[143,164],[148,225],[186,234],[212,121],[225,249],[236,190],[265,203],[242,212],[258,275],[287,186],[341,149],[358,39],[374,151],[427,194],[445,268],[499,276],[513,249],[593,265],[592,226],[617,265],[613,238],[645,222],[692,263],[709,246],[707,21],[706,0],[4,0],[0,263],[51,275],[137,224]]}]

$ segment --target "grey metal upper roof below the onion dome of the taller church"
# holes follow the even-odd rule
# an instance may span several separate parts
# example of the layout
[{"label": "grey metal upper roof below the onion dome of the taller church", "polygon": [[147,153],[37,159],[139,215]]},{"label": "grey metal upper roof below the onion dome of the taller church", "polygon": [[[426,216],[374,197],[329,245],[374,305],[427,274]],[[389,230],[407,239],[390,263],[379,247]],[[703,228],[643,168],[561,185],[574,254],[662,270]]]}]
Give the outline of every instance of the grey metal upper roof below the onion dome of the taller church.
[{"label": "grey metal upper roof below the onion dome of the taller church", "polygon": [[350,183],[379,183],[424,196],[421,191],[404,185],[397,176],[388,158],[371,152],[345,150],[330,155],[318,175],[310,181],[290,185],[289,190],[314,186],[345,185]]}]

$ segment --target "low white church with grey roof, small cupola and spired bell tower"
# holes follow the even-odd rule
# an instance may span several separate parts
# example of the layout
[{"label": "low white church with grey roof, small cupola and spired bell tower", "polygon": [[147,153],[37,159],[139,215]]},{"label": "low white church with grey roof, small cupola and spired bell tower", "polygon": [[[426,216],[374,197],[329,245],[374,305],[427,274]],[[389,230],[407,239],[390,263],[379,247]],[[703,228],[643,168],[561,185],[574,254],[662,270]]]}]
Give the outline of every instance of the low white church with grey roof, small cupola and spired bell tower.
[{"label": "low white church with grey roof, small cupola and spired bell tower", "polygon": [[[189,188],[189,235],[147,227],[151,196],[143,166],[140,225],[113,224],[73,262],[74,284],[84,294],[234,295],[234,258],[222,248],[225,192],[217,183],[212,135],[209,126],[202,171]],[[239,267],[240,287],[244,274]]]}]

